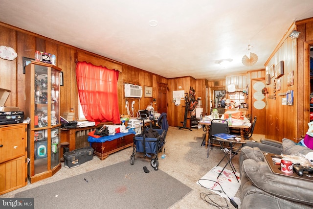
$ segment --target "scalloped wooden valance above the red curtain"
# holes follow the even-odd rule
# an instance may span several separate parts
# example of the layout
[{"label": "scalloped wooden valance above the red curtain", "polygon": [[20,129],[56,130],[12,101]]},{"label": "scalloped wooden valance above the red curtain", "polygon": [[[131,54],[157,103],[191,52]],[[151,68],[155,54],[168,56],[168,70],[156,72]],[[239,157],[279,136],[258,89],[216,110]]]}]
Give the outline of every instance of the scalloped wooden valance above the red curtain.
[{"label": "scalloped wooden valance above the red curtain", "polygon": [[92,55],[92,54],[87,54],[85,52],[82,51],[77,51],[74,55],[74,60],[75,62],[88,62],[91,63],[92,65],[95,66],[102,66],[102,67],[106,67],[110,70],[118,70],[120,72],[122,72],[123,67],[119,64],[110,62],[108,60],[105,60],[104,58],[101,58],[99,56],[96,55]]}]

